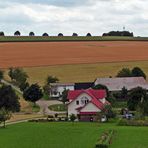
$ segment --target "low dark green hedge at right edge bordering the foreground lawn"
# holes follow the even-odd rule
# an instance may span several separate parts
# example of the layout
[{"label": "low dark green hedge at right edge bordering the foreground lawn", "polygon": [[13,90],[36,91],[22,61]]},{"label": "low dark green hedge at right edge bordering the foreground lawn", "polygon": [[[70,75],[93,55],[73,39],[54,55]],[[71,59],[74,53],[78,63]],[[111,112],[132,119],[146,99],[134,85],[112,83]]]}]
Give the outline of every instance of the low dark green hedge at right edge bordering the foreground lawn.
[{"label": "low dark green hedge at right edge bordering the foreground lawn", "polygon": [[118,123],[120,126],[148,126],[148,120],[127,120],[121,119]]}]

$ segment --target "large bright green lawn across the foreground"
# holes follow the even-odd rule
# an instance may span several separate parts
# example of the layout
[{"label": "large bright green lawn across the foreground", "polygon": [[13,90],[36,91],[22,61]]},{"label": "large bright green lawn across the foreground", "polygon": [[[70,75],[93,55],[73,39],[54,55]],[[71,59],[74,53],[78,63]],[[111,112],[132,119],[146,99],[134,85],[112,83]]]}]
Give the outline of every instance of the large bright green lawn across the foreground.
[{"label": "large bright green lawn across the foreground", "polygon": [[148,127],[124,127],[114,123],[19,123],[0,129],[2,148],[94,148],[104,130],[117,134],[111,148],[147,148]]}]

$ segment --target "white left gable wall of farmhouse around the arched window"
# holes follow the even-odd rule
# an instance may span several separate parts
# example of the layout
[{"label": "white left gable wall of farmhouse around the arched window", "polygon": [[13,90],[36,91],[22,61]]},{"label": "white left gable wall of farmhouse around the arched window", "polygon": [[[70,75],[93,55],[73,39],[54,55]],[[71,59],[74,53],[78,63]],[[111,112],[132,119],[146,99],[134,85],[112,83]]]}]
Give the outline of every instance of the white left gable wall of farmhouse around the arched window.
[{"label": "white left gable wall of farmhouse around the arched window", "polygon": [[[83,107],[83,106],[85,105],[85,104],[82,104],[82,102],[81,102],[81,100],[82,100],[84,97],[87,97],[89,101],[91,100],[91,97],[90,97],[88,94],[82,93],[82,94],[79,95],[73,102],[71,102],[71,103],[68,105],[68,115],[71,115],[71,114],[77,115],[77,114],[78,114],[76,108]],[[76,104],[76,101],[79,101],[79,105]]]}]

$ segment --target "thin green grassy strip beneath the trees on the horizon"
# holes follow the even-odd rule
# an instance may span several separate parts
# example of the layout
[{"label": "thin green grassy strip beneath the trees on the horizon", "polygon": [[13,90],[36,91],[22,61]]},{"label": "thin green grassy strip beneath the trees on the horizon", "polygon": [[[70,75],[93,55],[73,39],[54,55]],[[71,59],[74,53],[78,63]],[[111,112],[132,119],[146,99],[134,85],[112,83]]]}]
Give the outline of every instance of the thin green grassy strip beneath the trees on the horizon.
[{"label": "thin green grassy strip beneath the trees on the horizon", "polygon": [[49,36],[49,37],[42,37],[42,36],[5,36],[0,37],[0,42],[26,42],[26,41],[148,41],[147,37],[101,37],[101,36],[92,36],[92,37],[85,37],[85,36],[64,36],[64,37],[57,37],[57,36]]}]

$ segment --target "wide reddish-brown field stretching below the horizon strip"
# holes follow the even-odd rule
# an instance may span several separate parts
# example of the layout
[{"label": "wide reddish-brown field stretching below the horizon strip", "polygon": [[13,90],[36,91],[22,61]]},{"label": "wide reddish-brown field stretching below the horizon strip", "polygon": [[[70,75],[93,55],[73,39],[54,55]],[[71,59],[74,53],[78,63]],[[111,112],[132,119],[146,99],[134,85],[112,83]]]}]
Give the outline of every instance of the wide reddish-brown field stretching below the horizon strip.
[{"label": "wide reddish-brown field stretching below the horizon strip", "polygon": [[0,68],[148,60],[148,42],[0,43]]}]

